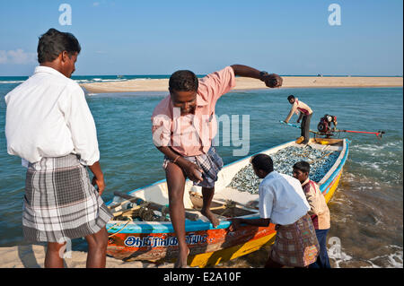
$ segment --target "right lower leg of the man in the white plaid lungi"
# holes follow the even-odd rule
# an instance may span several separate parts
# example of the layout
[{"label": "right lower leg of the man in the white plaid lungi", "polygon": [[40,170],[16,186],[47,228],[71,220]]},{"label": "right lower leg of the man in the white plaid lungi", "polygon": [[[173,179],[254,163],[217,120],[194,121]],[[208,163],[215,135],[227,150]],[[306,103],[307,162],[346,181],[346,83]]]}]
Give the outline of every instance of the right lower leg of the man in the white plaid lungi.
[{"label": "right lower leg of the man in the white plaid lungi", "polygon": [[105,268],[107,261],[108,232],[104,227],[85,237],[88,243],[87,268]]}]

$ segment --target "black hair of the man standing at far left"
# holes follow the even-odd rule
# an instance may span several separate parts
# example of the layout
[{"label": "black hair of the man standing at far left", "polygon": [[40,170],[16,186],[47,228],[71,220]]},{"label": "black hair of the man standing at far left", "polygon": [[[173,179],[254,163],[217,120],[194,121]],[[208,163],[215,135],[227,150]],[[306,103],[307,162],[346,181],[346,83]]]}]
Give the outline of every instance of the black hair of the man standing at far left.
[{"label": "black hair of the man standing at far left", "polygon": [[73,34],[52,28],[40,36],[37,49],[38,61],[40,64],[53,62],[63,51],[66,51],[69,56],[73,56],[75,53],[79,54],[81,49]]}]

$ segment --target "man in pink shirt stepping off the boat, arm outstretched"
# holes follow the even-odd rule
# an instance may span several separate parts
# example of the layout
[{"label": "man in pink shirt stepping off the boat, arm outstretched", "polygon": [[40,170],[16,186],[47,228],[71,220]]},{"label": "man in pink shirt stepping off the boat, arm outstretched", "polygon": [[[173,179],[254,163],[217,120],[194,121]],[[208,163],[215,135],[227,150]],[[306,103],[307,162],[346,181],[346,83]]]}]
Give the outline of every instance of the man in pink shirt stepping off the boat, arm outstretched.
[{"label": "man in pink shirt stepping off the boat, arm outstretched", "polygon": [[154,145],[164,154],[169,192],[170,217],[179,241],[180,253],[176,267],[185,267],[189,248],[185,240],[183,204],[185,179],[202,186],[201,213],[215,228],[219,221],[210,211],[215,194],[217,174],[223,160],[215,151],[212,140],[217,132],[216,101],[235,86],[235,76],[259,79],[270,88],[280,87],[282,78],[246,65],[231,65],[223,70],[198,77],[187,70],[171,74],[169,91],[152,116]]}]

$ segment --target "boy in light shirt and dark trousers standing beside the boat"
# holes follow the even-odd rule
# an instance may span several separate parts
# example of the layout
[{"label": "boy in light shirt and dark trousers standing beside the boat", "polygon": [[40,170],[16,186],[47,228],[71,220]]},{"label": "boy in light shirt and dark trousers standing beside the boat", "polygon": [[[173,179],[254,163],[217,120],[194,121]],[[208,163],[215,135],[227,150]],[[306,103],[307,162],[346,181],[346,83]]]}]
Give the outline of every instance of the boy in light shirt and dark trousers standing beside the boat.
[{"label": "boy in light shirt and dark trousers standing beside the boat", "polygon": [[309,173],[310,164],[308,162],[300,161],[294,164],[294,178],[302,183],[307,202],[310,204],[309,214],[312,217],[312,224],[320,244],[320,255],[315,263],[310,264],[309,268],[331,268],[327,254],[327,233],[330,226],[329,207],[319,185],[309,178]]}]

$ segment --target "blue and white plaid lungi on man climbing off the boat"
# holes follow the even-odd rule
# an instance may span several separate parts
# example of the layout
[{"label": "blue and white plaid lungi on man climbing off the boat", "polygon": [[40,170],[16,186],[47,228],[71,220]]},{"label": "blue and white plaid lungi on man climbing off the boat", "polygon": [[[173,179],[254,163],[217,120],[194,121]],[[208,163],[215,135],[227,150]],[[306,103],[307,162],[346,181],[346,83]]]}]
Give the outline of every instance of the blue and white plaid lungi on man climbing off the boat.
[{"label": "blue and white plaid lungi on man climbing off the boat", "polygon": [[[183,158],[197,164],[197,166],[203,170],[202,181],[199,183],[194,182],[194,186],[215,187],[217,174],[223,168],[224,163],[222,158],[217,154],[214,146],[211,146],[206,154]],[[171,160],[167,156],[164,156],[162,168],[166,169],[169,162],[171,162]]]}]

